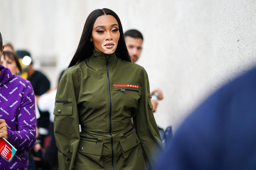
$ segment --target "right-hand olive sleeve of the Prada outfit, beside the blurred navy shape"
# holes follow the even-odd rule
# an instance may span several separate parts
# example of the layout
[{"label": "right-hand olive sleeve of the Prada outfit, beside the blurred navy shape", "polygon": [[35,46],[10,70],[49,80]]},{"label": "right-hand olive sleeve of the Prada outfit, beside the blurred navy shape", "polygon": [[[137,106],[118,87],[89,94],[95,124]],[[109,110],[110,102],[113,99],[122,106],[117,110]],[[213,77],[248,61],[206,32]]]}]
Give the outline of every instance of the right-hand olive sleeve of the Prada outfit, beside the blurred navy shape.
[{"label": "right-hand olive sleeve of the Prada outfit, beside the blurred navy shape", "polygon": [[162,151],[163,145],[158,131],[158,126],[153,115],[153,106],[150,99],[149,81],[146,71],[143,69],[143,87],[142,94],[138,101],[138,112],[133,117],[134,127],[136,129],[142,148],[151,165],[157,161],[157,154]]}]

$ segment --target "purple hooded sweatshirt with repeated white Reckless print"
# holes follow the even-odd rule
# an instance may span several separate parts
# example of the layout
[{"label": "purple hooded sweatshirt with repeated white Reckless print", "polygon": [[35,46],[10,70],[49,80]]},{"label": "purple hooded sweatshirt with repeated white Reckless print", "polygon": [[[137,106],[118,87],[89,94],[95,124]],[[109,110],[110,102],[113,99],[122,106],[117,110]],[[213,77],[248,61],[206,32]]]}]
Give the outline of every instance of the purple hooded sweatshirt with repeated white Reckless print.
[{"label": "purple hooded sweatshirt with repeated white Reckless print", "polygon": [[35,95],[30,82],[11,73],[0,65],[0,119],[4,119],[8,131],[7,141],[17,152],[8,162],[0,157],[0,169],[27,169],[26,150],[36,140]]}]

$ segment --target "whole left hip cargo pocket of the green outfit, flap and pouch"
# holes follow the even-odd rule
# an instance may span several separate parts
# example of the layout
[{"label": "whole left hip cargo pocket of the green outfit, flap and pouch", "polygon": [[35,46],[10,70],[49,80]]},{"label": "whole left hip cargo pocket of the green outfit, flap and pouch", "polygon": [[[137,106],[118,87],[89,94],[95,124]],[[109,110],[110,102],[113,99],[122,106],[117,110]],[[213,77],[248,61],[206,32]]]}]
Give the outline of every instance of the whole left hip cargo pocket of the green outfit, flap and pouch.
[{"label": "whole left hip cargo pocket of the green outfit, flap and pouch", "polygon": [[80,139],[74,169],[104,169],[100,159],[102,146],[102,143],[99,142]]}]

